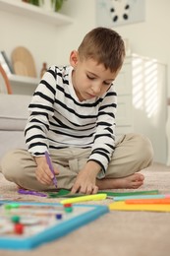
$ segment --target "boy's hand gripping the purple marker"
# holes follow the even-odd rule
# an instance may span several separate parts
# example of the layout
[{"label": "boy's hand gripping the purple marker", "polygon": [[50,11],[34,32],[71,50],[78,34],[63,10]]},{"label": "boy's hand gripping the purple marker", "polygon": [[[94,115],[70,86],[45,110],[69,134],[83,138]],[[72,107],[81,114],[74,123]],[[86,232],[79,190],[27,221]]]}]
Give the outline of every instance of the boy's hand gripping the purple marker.
[{"label": "boy's hand gripping the purple marker", "polygon": [[[37,180],[42,184],[51,185],[54,175],[48,166],[46,158],[36,157],[34,158],[34,160],[37,163],[37,167],[35,170]],[[59,174],[59,171],[57,169],[54,169],[54,171],[56,175]]]}]

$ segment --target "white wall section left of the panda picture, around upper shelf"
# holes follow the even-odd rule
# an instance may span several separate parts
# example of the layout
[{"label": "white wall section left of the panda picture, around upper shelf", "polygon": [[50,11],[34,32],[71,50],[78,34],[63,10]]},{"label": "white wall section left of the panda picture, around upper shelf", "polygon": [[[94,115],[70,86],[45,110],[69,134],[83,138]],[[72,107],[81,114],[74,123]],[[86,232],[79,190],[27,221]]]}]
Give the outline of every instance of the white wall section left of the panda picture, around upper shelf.
[{"label": "white wall section left of the panda picture, around upper shelf", "polygon": [[94,8],[93,0],[67,0],[62,13],[72,17],[74,23],[62,27],[0,10],[0,24],[3,25],[0,26],[0,50],[5,50],[10,57],[15,47],[28,47],[35,60],[37,75],[44,61],[49,66],[66,64],[70,51],[76,49],[85,32],[95,26]]}]

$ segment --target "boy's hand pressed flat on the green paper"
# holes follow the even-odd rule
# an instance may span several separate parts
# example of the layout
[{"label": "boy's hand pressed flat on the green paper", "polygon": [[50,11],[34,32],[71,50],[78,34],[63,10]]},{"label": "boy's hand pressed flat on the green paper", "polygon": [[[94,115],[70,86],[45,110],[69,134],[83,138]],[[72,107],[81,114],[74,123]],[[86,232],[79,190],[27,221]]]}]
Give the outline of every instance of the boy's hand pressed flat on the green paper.
[{"label": "boy's hand pressed flat on the green paper", "polygon": [[72,187],[71,193],[77,192],[86,195],[96,194],[98,187],[95,185],[96,175],[100,170],[100,166],[94,161],[88,161],[85,168],[80,171]]}]

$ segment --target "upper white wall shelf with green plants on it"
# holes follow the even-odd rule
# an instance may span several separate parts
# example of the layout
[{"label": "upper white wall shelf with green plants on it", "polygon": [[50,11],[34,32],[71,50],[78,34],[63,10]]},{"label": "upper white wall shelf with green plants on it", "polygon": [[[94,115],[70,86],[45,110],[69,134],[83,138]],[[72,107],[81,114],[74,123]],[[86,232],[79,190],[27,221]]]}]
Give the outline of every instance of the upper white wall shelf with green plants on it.
[{"label": "upper white wall shelf with green plants on it", "polygon": [[47,22],[56,26],[73,23],[73,19],[63,14],[44,11],[41,7],[33,6],[22,1],[0,0],[0,10],[20,14],[28,18],[42,21],[43,23]]}]

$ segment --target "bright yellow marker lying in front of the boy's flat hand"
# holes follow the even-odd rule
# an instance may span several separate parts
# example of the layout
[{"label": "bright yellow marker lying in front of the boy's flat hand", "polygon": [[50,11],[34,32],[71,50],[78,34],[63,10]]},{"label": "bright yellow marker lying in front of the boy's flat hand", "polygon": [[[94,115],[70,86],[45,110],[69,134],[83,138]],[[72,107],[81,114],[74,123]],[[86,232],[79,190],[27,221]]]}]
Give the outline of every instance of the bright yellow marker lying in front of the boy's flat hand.
[{"label": "bright yellow marker lying in front of the boy's flat hand", "polygon": [[61,204],[74,204],[80,203],[85,201],[96,201],[96,200],[103,200],[106,199],[107,194],[96,194],[96,195],[86,195],[81,197],[74,197],[62,200]]}]

